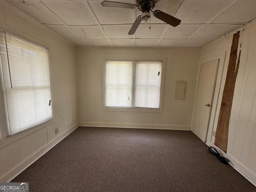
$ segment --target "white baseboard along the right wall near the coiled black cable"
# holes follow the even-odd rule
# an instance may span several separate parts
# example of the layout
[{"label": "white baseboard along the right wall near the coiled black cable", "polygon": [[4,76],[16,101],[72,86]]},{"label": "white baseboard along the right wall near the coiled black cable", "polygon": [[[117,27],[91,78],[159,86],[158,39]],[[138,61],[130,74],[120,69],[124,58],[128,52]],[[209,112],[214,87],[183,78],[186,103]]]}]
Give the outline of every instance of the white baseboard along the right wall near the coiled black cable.
[{"label": "white baseboard along the right wall near the coiled black cable", "polygon": [[248,181],[250,181],[254,186],[256,186],[256,175],[254,175],[250,170],[248,170],[245,166],[240,164],[237,160],[232,158],[230,155],[224,153],[218,146],[214,145],[214,143],[210,142],[210,144],[206,143],[208,146],[213,146],[215,147],[218,152],[220,153],[221,156],[228,158],[229,164],[237,170],[244,178],[246,178]]}]

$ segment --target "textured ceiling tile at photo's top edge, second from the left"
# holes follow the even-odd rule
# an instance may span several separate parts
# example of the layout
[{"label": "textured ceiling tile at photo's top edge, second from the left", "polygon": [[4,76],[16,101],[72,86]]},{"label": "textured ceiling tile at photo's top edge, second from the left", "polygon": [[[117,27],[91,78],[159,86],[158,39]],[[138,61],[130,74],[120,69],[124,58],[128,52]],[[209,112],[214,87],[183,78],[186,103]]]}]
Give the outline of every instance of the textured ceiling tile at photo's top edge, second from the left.
[{"label": "textured ceiling tile at photo's top edge, second from the left", "polygon": [[95,25],[97,22],[82,1],[43,1],[52,12],[68,25]]}]

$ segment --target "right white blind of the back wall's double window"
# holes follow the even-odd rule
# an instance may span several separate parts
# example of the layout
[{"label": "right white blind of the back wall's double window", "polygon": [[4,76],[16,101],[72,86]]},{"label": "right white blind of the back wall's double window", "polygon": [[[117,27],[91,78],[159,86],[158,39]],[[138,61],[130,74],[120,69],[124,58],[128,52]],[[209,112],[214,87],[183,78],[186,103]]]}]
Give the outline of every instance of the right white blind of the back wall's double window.
[{"label": "right white blind of the back wall's double window", "polygon": [[159,108],[162,61],[136,61],[134,107]]}]

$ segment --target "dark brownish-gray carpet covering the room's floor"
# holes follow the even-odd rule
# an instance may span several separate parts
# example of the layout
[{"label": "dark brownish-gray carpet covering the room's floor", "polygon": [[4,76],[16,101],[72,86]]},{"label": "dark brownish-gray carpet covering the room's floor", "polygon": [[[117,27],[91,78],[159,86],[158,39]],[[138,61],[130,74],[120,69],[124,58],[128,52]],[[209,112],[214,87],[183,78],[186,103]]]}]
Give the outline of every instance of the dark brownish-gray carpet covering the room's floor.
[{"label": "dark brownish-gray carpet covering the room's floor", "polygon": [[177,130],[79,127],[12,182],[30,192],[256,192]]}]

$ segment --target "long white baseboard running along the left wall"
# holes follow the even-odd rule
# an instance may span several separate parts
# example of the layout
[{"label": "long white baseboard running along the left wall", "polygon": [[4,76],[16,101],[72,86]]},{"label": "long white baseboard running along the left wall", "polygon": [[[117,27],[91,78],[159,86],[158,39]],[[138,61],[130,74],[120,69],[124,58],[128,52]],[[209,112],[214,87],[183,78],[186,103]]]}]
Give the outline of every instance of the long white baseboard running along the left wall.
[{"label": "long white baseboard running along the left wall", "polygon": [[1,182],[10,182],[12,179],[14,179],[16,176],[18,176],[18,174],[20,174],[22,171],[24,171],[26,168],[28,168],[31,164],[33,164],[36,160],[38,160],[41,156],[43,156],[46,152],[48,152],[51,148],[53,148],[56,144],[58,144],[61,140],[63,140],[66,136],[68,136],[70,133],[72,133],[76,128],[78,128],[78,123],[76,123],[73,126],[71,126],[70,128],[68,128],[66,131],[64,131],[62,134],[60,134],[54,140],[49,142],[46,146],[44,146],[38,152],[36,152],[32,156],[30,156],[28,159],[26,159],[20,165],[18,165],[13,170],[11,170],[6,175],[4,175],[2,178],[0,178]]}]

